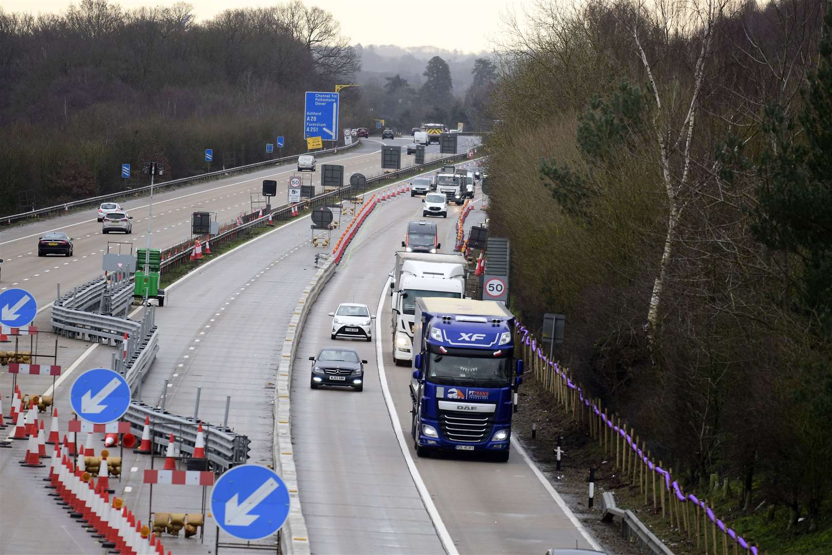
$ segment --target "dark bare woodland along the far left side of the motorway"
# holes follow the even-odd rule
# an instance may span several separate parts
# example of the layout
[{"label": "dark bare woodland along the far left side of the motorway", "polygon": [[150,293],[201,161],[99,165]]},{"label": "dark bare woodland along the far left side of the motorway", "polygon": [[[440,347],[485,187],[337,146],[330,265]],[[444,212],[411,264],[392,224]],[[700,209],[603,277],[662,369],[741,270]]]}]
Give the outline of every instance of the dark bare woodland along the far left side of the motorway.
[{"label": "dark bare woodland along the far left side of the motorway", "polygon": [[0,9],[0,214],[147,185],[143,161],[168,180],[276,158],[278,135],[284,156],[305,151],[304,92],[358,69],[332,15],[298,1],[206,21],[185,2]]}]

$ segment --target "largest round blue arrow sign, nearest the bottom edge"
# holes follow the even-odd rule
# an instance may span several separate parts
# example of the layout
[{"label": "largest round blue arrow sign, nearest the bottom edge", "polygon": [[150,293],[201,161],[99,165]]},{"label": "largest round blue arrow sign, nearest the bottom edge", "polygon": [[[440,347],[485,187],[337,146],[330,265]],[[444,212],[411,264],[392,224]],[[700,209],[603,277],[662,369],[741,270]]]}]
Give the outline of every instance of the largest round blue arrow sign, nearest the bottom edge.
[{"label": "largest round blue arrow sign, nearest the bottom edge", "polygon": [[210,508],[226,533],[246,540],[268,538],[289,516],[289,490],[280,476],[260,464],[241,464],[214,484]]}]

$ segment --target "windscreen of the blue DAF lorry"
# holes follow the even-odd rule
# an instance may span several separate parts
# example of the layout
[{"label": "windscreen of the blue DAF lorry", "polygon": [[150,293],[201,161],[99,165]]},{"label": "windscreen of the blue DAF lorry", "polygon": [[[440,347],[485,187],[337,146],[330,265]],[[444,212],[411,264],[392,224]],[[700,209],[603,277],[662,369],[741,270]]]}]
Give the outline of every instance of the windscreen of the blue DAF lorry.
[{"label": "windscreen of the blue DAF lorry", "polygon": [[506,387],[511,384],[510,357],[494,357],[491,351],[483,355],[468,349],[453,349],[448,354],[436,352],[431,346],[428,359],[428,379],[437,384]]}]

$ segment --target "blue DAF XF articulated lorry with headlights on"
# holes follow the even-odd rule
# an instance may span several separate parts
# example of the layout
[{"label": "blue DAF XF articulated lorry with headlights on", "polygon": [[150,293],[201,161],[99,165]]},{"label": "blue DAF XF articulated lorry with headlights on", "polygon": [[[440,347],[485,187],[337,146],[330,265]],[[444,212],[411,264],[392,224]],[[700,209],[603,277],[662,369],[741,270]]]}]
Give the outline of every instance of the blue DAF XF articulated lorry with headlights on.
[{"label": "blue DAF XF articulated lorry with headlights on", "polygon": [[416,453],[474,451],[508,461],[522,384],[515,320],[493,300],[418,297],[411,434]]}]

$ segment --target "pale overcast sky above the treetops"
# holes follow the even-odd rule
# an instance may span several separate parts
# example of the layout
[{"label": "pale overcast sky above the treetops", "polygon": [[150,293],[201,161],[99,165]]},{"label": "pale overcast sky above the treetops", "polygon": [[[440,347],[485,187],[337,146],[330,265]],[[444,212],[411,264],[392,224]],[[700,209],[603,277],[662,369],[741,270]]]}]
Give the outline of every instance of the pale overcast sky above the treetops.
[{"label": "pale overcast sky above the treetops", "polygon": [[[63,12],[68,0],[0,0],[7,12]],[[130,9],[140,6],[170,6],[174,0],[120,0]],[[209,19],[229,7],[265,7],[275,0],[191,0],[197,17]],[[500,38],[503,14],[522,15],[533,0],[304,0],[332,12],[341,31],[352,44],[394,44],[399,47],[433,45],[448,50],[480,52],[492,50]]]}]

